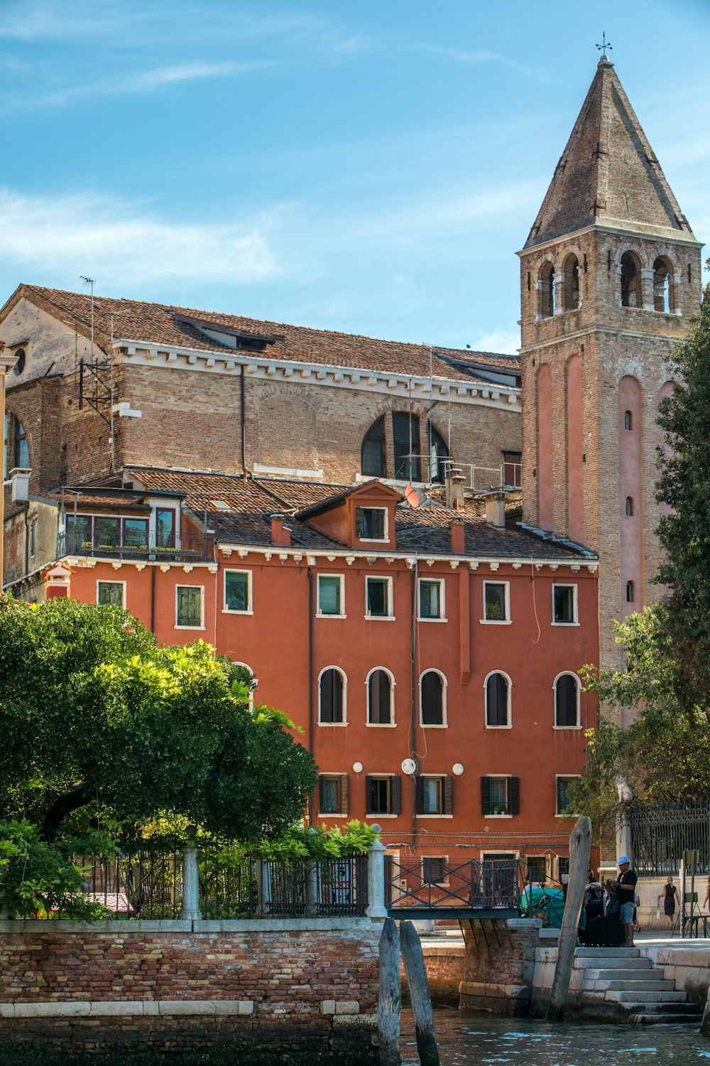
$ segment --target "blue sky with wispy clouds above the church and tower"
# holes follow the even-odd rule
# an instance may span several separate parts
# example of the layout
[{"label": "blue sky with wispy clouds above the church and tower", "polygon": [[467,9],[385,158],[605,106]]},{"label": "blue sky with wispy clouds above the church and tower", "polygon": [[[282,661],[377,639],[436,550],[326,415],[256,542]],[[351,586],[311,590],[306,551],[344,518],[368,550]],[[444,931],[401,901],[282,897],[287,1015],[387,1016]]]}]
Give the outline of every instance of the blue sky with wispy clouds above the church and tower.
[{"label": "blue sky with wispy clouds above the church and tower", "polygon": [[0,0],[0,295],[514,351],[602,30],[710,241],[707,0]]}]

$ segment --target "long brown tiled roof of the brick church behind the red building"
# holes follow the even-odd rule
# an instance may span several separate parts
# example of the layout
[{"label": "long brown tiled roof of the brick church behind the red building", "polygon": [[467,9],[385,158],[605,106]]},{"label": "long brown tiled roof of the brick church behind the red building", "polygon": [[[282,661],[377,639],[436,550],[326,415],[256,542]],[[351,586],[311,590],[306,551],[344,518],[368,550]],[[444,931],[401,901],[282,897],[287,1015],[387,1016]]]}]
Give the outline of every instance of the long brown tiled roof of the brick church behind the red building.
[{"label": "long brown tiled roof of the brick church behind the red building", "polygon": [[[0,311],[0,317],[22,296],[44,307],[72,329],[89,334],[92,302],[87,293],[21,285],[5,308]],[[230,353],[234,358],[242,358],[245,361],[254,358],[253,353],[235,352],[232,348],[208,337],[194,324],[195,322],[202,323],[208,328],[218,329],[221,326],[251,337],[274,339],[274,343],[267,345],[267,356],[281,361],[380,371],[414,377],[429,376],[430,349],[426,344],[378,340],[280,322],[262,322],[237,314],[200,311],[167,304],[149,304],[137,300],[118,300],[110,296],[94,298],[95,337],[104,351],[109,350],[113,336],[114,341],[144,341],[166,348]],[[480,373],[478,367],[481,368]],[[436,379],[461,382],[474,379],[481,384],[490,384],[485,368],[515,374],[519,372],[519,360],[516,356],[472,352],[468,349],[431,350],[431,372]]]}]

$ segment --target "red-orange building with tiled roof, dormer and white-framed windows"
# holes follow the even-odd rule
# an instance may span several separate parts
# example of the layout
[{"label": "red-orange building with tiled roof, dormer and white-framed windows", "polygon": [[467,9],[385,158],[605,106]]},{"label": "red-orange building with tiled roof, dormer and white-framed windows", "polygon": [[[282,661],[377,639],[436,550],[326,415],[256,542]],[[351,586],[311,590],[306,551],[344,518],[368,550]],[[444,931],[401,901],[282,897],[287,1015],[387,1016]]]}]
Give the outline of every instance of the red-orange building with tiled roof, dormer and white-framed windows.
[{"label": "red-orange building with tiled roof, dormer and white-framed windows", "polygon": [[377,481],[128,477],[56,499],[48,596],[122,604],[160,642],[247,665],[255,701],[313,752],[312,821],[378,822],[402,860],[513,854],[560,873],[596,724],[579,684],[597,661],[594,555],[506,527],[495,495],[486,520]]}]

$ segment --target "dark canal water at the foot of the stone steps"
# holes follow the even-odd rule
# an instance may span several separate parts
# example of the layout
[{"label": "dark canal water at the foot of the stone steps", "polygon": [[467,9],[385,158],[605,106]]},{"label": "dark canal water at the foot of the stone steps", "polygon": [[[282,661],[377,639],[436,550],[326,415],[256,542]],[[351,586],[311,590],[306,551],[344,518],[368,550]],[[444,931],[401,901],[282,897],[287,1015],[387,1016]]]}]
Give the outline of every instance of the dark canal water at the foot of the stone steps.
[{"label": "dark canal water at the foot of the stone steps", "polygon": [[[608,1025],[591,1021],[436,1011],[442,1066],[710,1066],[710,1036],[694,1025]],[[411,1011],[401,1018],[402,1063],[418,1066]]]}]

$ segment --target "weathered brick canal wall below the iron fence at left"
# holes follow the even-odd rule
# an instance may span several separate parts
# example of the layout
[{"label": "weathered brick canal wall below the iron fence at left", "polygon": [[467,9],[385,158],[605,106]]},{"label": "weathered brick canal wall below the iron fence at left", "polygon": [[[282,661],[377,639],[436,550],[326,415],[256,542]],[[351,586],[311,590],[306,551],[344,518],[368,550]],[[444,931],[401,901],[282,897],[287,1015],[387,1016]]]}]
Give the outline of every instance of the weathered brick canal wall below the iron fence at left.
[{"label": "weathered brick canal wall below the iron fence at left", "polygon": [[0,1034],[371,1054],[380,923],[0,922]]}]

